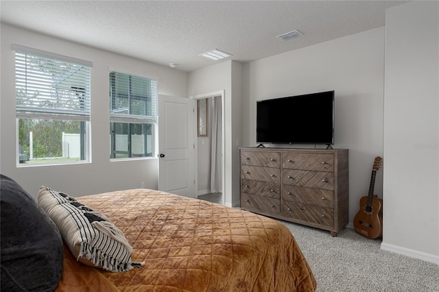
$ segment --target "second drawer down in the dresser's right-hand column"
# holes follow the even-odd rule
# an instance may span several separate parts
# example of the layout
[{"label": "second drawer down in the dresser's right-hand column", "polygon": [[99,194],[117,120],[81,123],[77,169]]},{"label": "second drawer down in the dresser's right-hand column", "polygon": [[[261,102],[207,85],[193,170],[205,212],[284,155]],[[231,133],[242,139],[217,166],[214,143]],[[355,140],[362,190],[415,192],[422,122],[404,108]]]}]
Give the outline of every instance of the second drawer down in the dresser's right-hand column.
[{"label": "second drawer down in the dresser's right-hand column", "polygon": [[304,186],[307,188],[322,188],[324,190],[333,191],[334,173],[284,169],[282,172],[282,184]]}]

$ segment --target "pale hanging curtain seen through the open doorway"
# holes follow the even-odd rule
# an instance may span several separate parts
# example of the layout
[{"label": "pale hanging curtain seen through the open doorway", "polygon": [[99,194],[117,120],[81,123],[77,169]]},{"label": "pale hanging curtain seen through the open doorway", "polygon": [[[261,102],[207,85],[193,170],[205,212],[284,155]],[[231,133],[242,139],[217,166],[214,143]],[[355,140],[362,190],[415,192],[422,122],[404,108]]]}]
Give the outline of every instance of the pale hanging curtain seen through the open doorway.
[{"label": "pale hanging curtain seen through the open doorway", "polygon": [[221,97],[213,97],[212,151],[211,151],[211,193],[222,193],[222,136]]}]

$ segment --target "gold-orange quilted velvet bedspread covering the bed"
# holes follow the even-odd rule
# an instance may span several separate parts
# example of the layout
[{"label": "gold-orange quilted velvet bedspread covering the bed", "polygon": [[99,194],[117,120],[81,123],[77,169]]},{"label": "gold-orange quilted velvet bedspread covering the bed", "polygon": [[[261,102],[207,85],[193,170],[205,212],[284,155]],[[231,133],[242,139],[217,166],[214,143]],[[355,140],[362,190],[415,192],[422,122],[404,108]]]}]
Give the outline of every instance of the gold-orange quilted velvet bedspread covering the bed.
[{"label": "gold-orange quilted velvet bedspread covering the bed", "polygon": [[289,229],[267,217],[147,189],[78,201],[104,212],[132,245],[132,261],[145,262],[123,273],[99,269],[119,291],[316,289]]}]

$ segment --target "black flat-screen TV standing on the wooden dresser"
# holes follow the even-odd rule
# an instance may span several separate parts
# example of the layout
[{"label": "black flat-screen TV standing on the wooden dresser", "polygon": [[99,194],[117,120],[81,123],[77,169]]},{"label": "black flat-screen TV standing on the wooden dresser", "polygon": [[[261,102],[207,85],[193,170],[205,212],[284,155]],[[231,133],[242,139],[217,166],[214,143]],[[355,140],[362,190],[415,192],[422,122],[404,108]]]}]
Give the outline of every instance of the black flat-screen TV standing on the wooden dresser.
[{"label": "black flat-screen TV standing on the wooden dresser", "polygon": [[334,91],[257,101],[259,144],[334,143]]}]

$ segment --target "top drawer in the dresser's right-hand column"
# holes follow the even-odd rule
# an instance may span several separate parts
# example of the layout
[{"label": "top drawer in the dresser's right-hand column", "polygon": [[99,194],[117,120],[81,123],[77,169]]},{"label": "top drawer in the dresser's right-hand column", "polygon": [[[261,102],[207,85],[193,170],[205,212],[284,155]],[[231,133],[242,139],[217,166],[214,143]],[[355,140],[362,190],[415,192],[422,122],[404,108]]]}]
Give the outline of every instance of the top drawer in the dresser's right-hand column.
[{"label": "top drawer in the dresser's right-hand column", "polygon": [[288,153],[282,154],[283,169],[334,171],[333,154]]}]

